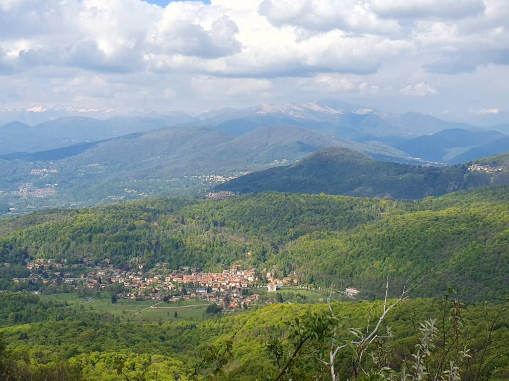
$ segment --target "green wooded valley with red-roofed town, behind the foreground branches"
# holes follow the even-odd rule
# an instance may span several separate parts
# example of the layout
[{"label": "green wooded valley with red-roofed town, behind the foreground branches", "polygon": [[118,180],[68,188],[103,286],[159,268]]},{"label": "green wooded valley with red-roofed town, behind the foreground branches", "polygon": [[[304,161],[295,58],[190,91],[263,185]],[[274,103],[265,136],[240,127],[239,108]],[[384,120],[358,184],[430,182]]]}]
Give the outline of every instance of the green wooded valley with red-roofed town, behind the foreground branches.
[{"label": "green wooded valley with red-roofed town, behind the foreground branches", "polygon": [[[507,335],[508,197],[507,185],[416,201],[266,192],[6,218],[0,337],[16,359],[10,369],[21,371],[26,353],[30,374],[173,381],[189,369],[206,376],[224,357],[215,379],[275,378],[270,348],[293,351],[293,327],[333,313],[355,340],[382,313],[385,282],[392,303],[411,276],[411,298],[387,314],[383,329],[394,334],[384,342],[404,351],[419,340],[415,325],[451,313],[476,327],[458,342],[481,348],[480,361],[488,332]],[[324,340],[334,337],[328,327]],[[502,366],[503,353],[489,360]],[[337,366],[348,369],[351,356]],[[296,360],[290,374],[327,370]]]}]

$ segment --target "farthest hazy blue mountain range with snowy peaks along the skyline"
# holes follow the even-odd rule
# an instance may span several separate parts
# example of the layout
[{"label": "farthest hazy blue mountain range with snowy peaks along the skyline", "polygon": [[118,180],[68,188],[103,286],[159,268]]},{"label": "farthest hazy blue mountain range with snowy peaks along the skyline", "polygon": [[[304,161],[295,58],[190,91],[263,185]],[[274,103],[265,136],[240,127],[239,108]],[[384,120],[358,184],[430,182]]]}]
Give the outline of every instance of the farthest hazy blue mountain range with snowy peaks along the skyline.
[{"label": "farthest hazy blue mountain range with snowy peaks along the skyline", "polygon": [[[38,118],[52,109],[38,107]],[[421,135],[434,134],[446,129],[485,131],[467,123],[448,122],[430,115],[415,112],[387,113],[365,106],[337,100],[321,100],[302,104],[264,104],[244,109],[225,108],[205,112],[197,117],[183,112],[145,112],[121,115],[118,110],[52,111],[42,123],[24,122],[26,110],[6,112],[0,110],[3,120],[11,119],[0,127],[2,151],[36,152],[68,145],[109,139],[134,132],[162,129],[167,126],[204,126],[240,136],[264,125],[292,125],[304,129],[333,134],[341,139],[361,142],[379,141],[393,146]],[[71,113],[74,114],[71,115]],[[111,116],[111,114],[113,114]],[[92,116],[95,116],[92,117]],[[19,117],[15,119],[15,117]],[[472,148],[472,147],[470,147]]]}]

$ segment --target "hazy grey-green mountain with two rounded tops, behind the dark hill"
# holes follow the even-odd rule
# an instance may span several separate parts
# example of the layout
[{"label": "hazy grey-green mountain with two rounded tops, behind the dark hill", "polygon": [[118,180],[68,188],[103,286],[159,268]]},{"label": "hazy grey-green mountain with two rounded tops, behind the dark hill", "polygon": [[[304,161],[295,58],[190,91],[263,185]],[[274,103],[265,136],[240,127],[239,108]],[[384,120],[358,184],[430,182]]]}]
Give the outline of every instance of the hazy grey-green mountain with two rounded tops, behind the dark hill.
[{"label": "hazy grey-green mountain with two rounded tops, behind the dark hill", "polygon": [[348,147],[383,160],[408,161],[404,152],[380,142],[349,141],[286,125],[262,126],[238,137],[209,127],[176,126],[0,157],[23,161],[64,160],[65,165],[72,167],[101,163],[115,166],[117,175],[133,170],[142,177],[160,177],[204,171],[245,171],[258,165],[293,163],[330,146]]}]

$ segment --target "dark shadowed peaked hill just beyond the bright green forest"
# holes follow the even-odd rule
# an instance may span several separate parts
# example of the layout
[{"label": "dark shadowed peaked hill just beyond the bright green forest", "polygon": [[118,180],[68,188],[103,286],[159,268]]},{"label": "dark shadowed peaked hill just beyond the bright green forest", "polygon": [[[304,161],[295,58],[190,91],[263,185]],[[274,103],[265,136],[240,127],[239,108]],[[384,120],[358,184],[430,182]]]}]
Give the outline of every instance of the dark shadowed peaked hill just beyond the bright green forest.
[{"label": "dark shadowed peaked hill just beyond the bright green forest", "polygon": [[507,183],[508,173],[471,171],[465,165],[415,167],[378,162],[349,149],[326,148],[296,164],[250,173],[220,184],[216,189],[239,193],[274,190],[420,199],[491,183]]}]

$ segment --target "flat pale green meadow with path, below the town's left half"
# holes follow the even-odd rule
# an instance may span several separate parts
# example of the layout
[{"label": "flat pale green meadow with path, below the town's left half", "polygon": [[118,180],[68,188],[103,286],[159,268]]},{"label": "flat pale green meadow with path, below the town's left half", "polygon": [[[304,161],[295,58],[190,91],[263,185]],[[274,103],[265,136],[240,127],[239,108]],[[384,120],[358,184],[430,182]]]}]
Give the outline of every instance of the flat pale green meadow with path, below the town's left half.
[{"label": "flat pale green meadow with path, below the town's left half", "polygon": [[79,298],[77,294],[41,295],[41,298],[67,302],[69,305],[82,304],[88,310],[106,311],[120,315],[125,319],[142,322],[174,321],[175,311],[177,319],[201,320],[205,318],[208,302],[205,300],[182,301],[179,303],[164,303],[155,300],[119,299],[111,303],[109,293],[101,293],[100,298]]}]

